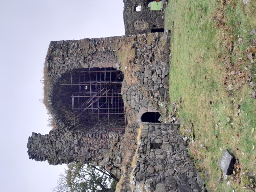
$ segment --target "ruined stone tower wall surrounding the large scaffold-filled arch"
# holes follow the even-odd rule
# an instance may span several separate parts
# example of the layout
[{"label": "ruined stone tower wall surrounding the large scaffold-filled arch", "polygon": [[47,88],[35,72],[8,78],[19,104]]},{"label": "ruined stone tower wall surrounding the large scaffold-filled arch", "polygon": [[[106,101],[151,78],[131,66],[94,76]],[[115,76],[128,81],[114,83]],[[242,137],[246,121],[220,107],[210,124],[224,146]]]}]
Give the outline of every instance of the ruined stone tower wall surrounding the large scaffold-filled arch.
[{"label": "ruined stone tower wall surrounding the large scaffold-filled arch", "polygon": [[[163,103],[168,97],[169,41],[170,32],[166,31],[130,37],[51,42],[44,68],[44,91],[46,106],[57,128],[46,135],[32,133],[27,145],[29,157],[36,161],[47,160],[54,165],[71,161],[103,165],[111,167],[109,171],[120,176],[118,167],[124,153],[111,151],[111,148],[122,145],[124,132],[104,127],[74,127],[74,119],[70,120],[63,112],[67,107],[64,100],[67,95],[60,83],[65,81],[70,71],[78,68],[113,67],[122,70],[128,74],[124,78],[121,94],[130,122],[129,118],[139,114],[143,108],[160,110],[165,106]],[[118,51],[127,45],[131,45],[129,51],[133,57],[129,62],[121,63]],[[133,79],[130,83],[129,77]],[[138,124],[129,124],[128,128],[131,126],[135,133]]]}]

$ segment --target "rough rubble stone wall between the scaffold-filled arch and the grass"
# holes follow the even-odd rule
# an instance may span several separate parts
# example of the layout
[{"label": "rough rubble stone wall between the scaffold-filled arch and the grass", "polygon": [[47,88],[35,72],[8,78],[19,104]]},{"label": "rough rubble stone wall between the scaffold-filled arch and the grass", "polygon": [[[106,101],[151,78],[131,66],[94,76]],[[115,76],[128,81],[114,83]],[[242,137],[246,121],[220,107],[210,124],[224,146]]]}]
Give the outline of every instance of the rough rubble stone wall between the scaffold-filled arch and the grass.
[{"label": "rough rubble stone wall between the scaffold-filled arch and the grass", "polygon": [[[138,83],[129,85],[124,80],[121,92],[124,104],[131,109],[128,114],[139,114],[140,108],[158,110],[162,115],[167,112],[164,109],[169,105],[169,42],[170,31],[137,36],[132,76]],[[129,70],[129,66],[127,67]]]}]

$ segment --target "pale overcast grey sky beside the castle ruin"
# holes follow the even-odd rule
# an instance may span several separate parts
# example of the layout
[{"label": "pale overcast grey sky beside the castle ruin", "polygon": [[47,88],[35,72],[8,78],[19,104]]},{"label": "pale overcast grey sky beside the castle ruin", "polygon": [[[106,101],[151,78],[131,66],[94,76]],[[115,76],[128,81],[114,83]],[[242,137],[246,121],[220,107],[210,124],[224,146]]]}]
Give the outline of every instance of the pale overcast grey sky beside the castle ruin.
[{"label": "pale overcast grey sky beside the castle ruin", "polygon": [[43,64],[50,41],[124,35],[122,0],[0,0],[0,191],[47,192],[63,166],[28,159],[46,134]]}]

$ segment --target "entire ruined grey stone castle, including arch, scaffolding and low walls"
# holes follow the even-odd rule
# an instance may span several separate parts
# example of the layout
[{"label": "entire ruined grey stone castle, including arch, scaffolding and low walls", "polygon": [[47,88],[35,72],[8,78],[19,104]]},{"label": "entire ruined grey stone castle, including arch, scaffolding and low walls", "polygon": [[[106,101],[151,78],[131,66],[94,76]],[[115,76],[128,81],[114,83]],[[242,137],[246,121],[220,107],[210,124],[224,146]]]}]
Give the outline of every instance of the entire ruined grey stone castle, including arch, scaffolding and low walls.
[{"label": "entire ruined grey stone castle, including arch, scaffolding and low walls", "polygon": [[205,191],[179,124],[163,123],[170,31],[164,9],[148,3],[124,0],[126,36],[50,43],[44,102],[55,127],[32,133],[29,159],[103,166],[120,179],[119,191]]}]

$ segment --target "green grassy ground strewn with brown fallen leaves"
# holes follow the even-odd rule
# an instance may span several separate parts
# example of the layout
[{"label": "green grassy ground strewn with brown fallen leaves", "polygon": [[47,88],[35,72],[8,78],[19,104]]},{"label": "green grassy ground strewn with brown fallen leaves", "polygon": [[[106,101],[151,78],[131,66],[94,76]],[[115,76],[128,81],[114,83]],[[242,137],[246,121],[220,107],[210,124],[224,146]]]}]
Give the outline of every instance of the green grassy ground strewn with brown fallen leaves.
[{"label": "green grassy ground strewn with brown fallen leaves", "polygon": [[[253,28],[255,0],[169,0],[165,10],[165,29],[172,33],[170,99],[212,191],[254,190],[243,188],[255,184],[246,173],[256,173],[256,100],[250,97],[256,64],[246,52],[256,38]],[[230,185],[217,182],[225,149],[237,158]]]}]

